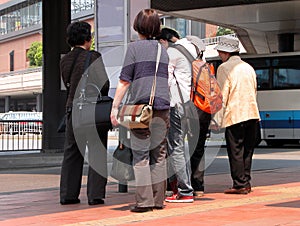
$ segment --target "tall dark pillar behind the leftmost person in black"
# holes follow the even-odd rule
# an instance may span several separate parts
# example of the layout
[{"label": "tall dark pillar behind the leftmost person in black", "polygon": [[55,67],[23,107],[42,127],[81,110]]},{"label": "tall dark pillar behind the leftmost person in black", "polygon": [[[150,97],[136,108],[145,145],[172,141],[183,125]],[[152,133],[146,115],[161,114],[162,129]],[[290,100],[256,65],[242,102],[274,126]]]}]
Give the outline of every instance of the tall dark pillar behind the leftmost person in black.
[{"label": "tall dark pillar behind the leftmost person in black", "polygon": [[44,152],[62,151],[64,134],[57,127],[65,112],[66,91],[61,90],[59,63],[70,51],[66,28],[71,0],[43,0],[43,145]]}]

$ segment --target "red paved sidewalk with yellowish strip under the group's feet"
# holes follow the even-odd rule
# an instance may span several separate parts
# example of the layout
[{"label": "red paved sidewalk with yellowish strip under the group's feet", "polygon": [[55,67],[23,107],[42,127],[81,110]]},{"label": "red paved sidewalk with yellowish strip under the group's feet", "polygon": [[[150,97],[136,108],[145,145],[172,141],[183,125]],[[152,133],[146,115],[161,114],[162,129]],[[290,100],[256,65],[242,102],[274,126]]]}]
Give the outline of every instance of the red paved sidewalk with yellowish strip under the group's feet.
[{"label": "red paved sidewalk with yellowish strip under the group's feet", "polygon": [[[58,186],[10,191],[0,194],[0,225],[300,225],[299,168],[253,172],[253,192],[226,195],[228,174],[206,176],[206,193],[194,203],[166,203],[163,210],[131,213],[134,188],[118,193],[116,184],[107,187],[105,205],[87,205],[85,188],[81,204],[61,206]],[[14,175],[1,175],[1,180]],[[18,175],[42,182],[41,177]],[[19,178],[20,179],[20,178]],[[40,181],[35,181],[40,180]],[[57,183],[59,177],[52,178]],[[53,182],[52,182],[53,183]],[[55,184],[54,183],[54,184]],[[8,185],[9,186],[9,185]]]}]

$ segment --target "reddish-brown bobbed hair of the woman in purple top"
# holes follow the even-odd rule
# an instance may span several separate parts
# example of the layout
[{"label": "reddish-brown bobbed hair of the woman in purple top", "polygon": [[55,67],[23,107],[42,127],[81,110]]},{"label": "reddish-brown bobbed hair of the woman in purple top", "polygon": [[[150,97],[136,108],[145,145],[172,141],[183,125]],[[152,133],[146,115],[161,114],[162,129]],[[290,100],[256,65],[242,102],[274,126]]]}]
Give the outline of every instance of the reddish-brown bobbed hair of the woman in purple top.
[{"label": "reddish-brown bobbed hair of the woman in purple top", "polygon": [[147,39],[153,39],[160,34],[160,19],[154,9],[143,9],[135,17],[133,29],[144,35]]}]

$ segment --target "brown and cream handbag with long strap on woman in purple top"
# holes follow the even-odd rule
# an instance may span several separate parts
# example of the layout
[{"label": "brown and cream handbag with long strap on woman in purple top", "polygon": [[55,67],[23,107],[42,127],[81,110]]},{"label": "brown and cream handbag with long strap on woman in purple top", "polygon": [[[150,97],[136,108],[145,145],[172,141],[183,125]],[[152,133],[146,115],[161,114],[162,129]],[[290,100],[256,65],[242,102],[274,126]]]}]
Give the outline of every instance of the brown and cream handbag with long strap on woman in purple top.
[{"label": "brown and cream handbag with long strap on woman in purple top", "polygon": [[153,102],[156,89],[156,74],[160,61],[161,45],[158,43],[158,51],[156,58],[156,69],[153,79],[150,100],[148,104],[125,104],[118,113],[118,122],[121,126],[128,129],[145,129],[149,128],[153,115]]}]

